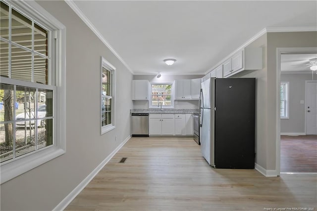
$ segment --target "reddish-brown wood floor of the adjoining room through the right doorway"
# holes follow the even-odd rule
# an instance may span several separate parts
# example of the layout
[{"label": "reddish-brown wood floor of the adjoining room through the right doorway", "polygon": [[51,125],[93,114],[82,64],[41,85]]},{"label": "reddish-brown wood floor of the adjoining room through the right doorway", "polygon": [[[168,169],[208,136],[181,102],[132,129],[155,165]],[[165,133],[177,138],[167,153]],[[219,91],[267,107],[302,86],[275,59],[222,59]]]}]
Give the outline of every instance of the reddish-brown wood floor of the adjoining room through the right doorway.
[{"label": "reddish-brown wood floor of the adjoining room through the right doorway", "polygon": [[317,136],[281,136],[281,172],[317,172]]}]

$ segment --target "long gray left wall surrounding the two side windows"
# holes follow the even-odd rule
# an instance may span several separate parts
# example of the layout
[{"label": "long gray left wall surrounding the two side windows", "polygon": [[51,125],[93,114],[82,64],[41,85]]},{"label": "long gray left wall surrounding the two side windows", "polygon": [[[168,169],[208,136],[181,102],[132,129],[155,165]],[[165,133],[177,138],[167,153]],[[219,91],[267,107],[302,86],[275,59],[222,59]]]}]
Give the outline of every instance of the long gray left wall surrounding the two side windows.
[{"label": "long gray left wall surrounding the two side windows", "polygon": [[[64,1],[38,3],[66,26],[66,154],[1,184],[1,210],[49,211],[130,135],[132,74]],[[116,67],[116,128],[100,135],[100,66]],[[115,141],[115,137],[117,140]]]}]

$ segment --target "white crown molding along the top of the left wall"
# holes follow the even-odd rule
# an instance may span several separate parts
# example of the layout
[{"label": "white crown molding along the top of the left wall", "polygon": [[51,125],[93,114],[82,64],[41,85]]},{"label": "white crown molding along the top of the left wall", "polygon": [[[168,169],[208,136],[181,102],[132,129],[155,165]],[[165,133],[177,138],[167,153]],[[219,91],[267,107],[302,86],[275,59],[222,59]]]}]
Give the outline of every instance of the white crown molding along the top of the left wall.
[{"label": "white crown molding along the top of the left wall", "polygon": [[86,25],[96,34],[96,36],[105,44],[105,46],[121,61],[121,63],[132,73],[132,69],[127,65],[127,63],[121,58],[121,56],[111,47],[111,45],[106,41],[104,36],[97,30],[97,28],[90,22],[90,20],[84,15],[81,9],[73,2],[73,0],[65,0],[65,2],[70,6],[70,8],[86,23]]}]

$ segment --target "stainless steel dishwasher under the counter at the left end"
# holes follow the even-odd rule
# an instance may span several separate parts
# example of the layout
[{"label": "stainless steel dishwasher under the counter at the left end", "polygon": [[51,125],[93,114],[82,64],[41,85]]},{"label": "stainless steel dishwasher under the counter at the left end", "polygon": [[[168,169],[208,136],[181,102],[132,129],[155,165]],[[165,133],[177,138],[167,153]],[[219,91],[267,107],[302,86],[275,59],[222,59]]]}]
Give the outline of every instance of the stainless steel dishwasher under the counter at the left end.
[{"label": "stainless steel dishwasher under the counter at the left end", "polygon": [[132,137],[149,137],[149,113],[131,113]]}]

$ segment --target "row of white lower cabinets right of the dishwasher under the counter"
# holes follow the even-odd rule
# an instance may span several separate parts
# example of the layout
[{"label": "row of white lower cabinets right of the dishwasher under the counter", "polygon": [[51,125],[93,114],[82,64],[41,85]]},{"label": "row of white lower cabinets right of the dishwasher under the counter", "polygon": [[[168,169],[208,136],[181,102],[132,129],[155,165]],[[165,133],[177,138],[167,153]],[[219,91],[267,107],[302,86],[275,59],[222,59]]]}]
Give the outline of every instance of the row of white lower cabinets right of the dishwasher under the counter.
[{"label": "row of white lower cabinets right of the dishwasher under the counter", "polygon": [[192,114],[150,114],[149,135],[193,135]]}]

